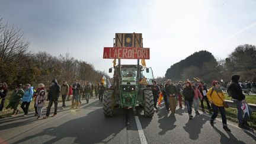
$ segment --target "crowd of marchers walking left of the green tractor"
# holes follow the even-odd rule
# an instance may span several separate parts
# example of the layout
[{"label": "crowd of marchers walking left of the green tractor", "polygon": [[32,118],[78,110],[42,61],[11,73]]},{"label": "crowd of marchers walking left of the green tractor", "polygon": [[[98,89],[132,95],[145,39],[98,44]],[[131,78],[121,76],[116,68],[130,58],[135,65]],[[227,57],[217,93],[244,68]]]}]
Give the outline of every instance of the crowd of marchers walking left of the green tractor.
[{"label": "crowd of marchers walking left of the green tractor", "polygon": [[[85,99],[87,104],[89,99],[93,98],[95,92],[95,97],[99,98],[99,101],[103,101],[103,94],[105,87],[103,83],[98,82],[95,86],[91,82],[81,83],[78,80],[75,80],[73,84],[68,85],[67,81],[63,81],[63,84],[60,86],[57,82],[57,79],[53,79],[48,88],[44,84],[40,83],[37,85],[37,89],[34,89],[30,84],[26,84],[23,90],[23,85],[18,84],[17,87],[12,91],[12,94],[9,97],[9,104],[6,109],[11,108],[12,117],[20,113],[18,105],[21,103],[21,109],[24,112],[24,117],[27,116],[29,106],[31,101],[34,100],[34,116],[37,116],[37,119],[41,117],[43,107],[46,104],[46,101],[49,101],[46,110],[46,116],[44,119],[47,119],[50,115],[50,109],[54,104],[55,110],[53,117],[57,114],[57,105],[59,103],[59,96],[61,95],[62,108],[66,107],[65,102],[71,99],[71,108],[79,108],[79,105],[82,103],[81,99]],[[0,113],[2,112],[5,104],[5,100],[8,95],[8,85],[6,82],[0,83]]]}]

